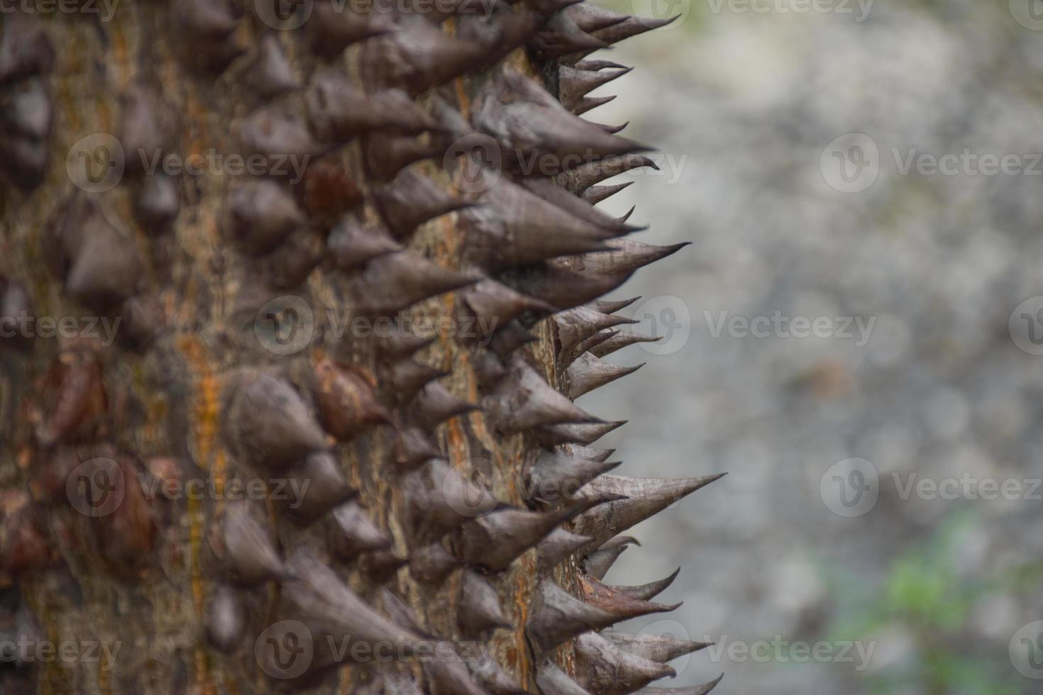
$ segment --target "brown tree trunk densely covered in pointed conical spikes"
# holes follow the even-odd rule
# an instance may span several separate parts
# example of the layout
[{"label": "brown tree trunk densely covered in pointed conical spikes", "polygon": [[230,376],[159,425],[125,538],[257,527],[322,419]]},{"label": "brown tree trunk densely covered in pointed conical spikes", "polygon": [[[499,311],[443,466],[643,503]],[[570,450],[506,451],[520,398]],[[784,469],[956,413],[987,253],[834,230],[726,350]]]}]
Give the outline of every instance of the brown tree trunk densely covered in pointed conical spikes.
[{"label": "brown tree trunk densely covered in pointed conical spikes", "polygon": [[602,631],[673,577],[600,579],[713,477],[608,475],[569,400],[676,250],[593,207],[649,160],[586,56],[664,21],[63,7],[0,38],[0,692],[625,693],[699,648]]}]

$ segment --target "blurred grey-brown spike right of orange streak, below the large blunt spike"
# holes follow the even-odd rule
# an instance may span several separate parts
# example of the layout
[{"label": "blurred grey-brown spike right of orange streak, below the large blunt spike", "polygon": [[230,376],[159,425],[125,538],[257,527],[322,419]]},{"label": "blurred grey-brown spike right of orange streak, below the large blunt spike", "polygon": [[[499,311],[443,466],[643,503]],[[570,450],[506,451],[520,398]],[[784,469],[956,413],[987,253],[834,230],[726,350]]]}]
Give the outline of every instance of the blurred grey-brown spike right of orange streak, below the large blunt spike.
[{"label": "blurred grey-brown spike right of orange streak, below the large blunt spike", "polygon": [[261,526],[246,502],[225,506],[212,531],[211,548],[228,578],[239,586],[287,576],[271,532]]}]

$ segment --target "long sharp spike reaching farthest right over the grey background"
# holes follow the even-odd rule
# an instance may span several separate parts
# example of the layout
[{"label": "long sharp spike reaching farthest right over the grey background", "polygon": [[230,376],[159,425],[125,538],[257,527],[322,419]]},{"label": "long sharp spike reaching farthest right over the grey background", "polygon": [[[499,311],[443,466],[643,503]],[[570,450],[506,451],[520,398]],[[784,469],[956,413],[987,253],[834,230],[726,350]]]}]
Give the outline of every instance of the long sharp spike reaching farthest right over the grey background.
[{"label": "long sharp spike reaching farthest right over the grey background", "polygon": [[677,500],[690,495],[724,473],[692,478],[628,478],[602,475],[587,483],[585,491],[610,492],[625,495],[627,499],[597,506],[580,515],[574,530],[604,543],[612,536],[658,514]]}]

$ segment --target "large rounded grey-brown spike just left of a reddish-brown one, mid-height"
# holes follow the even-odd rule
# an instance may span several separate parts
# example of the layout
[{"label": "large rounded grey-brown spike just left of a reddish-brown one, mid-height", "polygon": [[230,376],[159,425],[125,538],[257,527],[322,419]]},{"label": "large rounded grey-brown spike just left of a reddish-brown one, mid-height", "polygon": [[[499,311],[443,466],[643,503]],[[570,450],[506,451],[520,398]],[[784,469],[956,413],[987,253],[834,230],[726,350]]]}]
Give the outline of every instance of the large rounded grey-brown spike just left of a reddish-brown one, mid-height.
[{"label": "large rounded grey-brown spike just left of a reddish-brown one, mid-height", "polygon": [[286,468],[329,446],[296,389],[274,373],[244,369],[224,392],[224,429],[233,450],[265,470]]}]

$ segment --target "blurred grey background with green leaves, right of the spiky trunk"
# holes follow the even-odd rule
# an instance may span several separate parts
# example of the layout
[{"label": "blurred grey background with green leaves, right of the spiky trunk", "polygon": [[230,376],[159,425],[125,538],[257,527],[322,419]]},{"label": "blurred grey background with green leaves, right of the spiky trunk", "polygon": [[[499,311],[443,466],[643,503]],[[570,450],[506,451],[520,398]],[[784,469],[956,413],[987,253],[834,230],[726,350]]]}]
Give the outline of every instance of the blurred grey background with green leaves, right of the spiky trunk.
[{"label": "blurred grey background with green leaves, right of the spiky trunk", "polygon": [[602,206],[693,245],[580,404],[623,474],[730,472],[607,576],[683,567],[628,627],[718,645],[660,685],[1043,692],[1043,2],[603,4],[682,18],[597,55],[660,148]]}]

